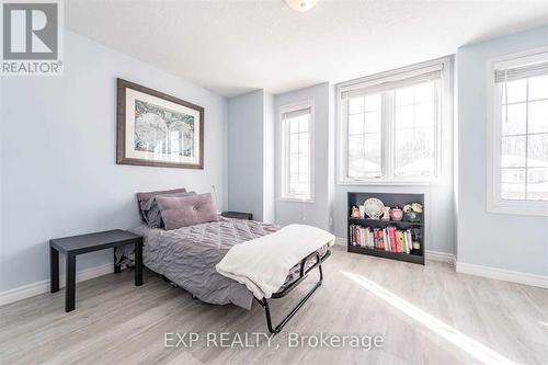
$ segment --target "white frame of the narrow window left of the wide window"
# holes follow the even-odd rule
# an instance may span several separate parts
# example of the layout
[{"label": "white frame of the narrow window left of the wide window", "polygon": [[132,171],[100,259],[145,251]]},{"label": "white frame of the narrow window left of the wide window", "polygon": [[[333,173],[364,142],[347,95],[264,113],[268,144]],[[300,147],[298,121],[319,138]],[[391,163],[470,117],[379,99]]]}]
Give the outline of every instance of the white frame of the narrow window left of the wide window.
[{"label": "white frame of the narrow window left of the wide window", "polygon": [[[308,184],[310,196],[306,197],[302,195],[290,194],[289,191],[289,144],[287,142],[287,130],[284,123],[283,115],[285,113],[290,113],[304,109],[310,109],[310,119],[308,125]],[[279,199],[283,202],[299,202],[299,203],[313,203],[315,202],[315,148],[313,148],[313,130],[315,130],[315,103],[313,100],[307,100],[298,103],[287,104],[279,107],[279,136],[281,136],[281,168],[282,168],[282,181],[281,181],[281,193]]]}]

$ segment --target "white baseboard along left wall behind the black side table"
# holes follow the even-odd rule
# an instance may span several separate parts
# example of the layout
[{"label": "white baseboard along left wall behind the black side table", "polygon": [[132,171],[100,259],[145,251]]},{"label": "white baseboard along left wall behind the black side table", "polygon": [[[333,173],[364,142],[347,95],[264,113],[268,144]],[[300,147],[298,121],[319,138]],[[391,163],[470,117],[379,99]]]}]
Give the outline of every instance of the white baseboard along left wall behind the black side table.
[{"label": "white baseboard along left wall behind the black side table", "polygon": [[[114,272],[112,263],[95,266],[79,271],[76,274],[77,283],[88,281],[98,276],[106,275]],[[59,275],[59,286],[65,286],[65,275]],[[23,285],[10,290],[0,293],[0,306],[14,303],[21,299],[30,298],[38,294],[49,292],[49,280],[36,282],[28,285]]]}]

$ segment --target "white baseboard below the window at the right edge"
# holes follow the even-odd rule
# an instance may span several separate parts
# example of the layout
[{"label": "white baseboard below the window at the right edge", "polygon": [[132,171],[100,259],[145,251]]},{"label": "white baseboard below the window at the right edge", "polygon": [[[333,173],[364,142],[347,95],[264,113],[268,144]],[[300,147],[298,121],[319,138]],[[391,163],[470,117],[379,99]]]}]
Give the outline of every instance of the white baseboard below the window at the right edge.
[{"label": "white baseboard below the window at the right edge", "polygon": [[457,262],[457,273],[548,288],[548,276]]}]

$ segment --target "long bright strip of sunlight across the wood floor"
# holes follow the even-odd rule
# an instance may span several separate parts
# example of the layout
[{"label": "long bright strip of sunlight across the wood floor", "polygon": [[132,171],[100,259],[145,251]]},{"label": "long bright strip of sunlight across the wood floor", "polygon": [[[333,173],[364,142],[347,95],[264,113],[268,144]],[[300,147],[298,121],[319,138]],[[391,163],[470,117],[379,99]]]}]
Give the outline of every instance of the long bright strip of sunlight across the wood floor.
[{"label": "long bright strip of sunlight across the wood floor", "polygon": [[345,271],[341,271],[341,273],[346,277],[351,278],[352,281],[354,281],[355,283],[359,284],[362,287],[369,290],[372,294],[385,300],[390,306],[402,311],[412,319],[425,326],[427,329],[432,330],[433,332],[437,333],[438,335],[449,341],[454,345],[464,350],[466,353],[470,354],[478,361],[484,364],[507,364],[507,365],[515,364],[513,361],[504,357],[503,355],[479,343],[478,341],[467,337],[466,334],[450,327],[449,324],[429,315],[424,310],[413,306],[409,301],[385,289],[375,282],[372,282],[370,280],[362,275],[352,274]]}]

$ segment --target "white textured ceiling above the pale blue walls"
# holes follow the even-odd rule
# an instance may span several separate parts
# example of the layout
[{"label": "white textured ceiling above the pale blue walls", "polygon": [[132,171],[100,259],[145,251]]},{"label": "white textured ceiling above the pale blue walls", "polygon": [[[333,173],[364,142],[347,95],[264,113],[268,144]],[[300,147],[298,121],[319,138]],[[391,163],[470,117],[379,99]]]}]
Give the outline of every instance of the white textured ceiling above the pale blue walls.
[{"label": "white textured ceiling above the pale blue walls", "polygon": [[282,93],[548,24],[545,1],[69,0],[67,26],[224,96]]}]

